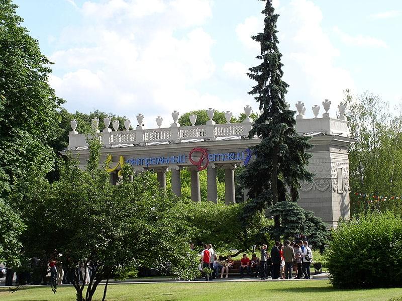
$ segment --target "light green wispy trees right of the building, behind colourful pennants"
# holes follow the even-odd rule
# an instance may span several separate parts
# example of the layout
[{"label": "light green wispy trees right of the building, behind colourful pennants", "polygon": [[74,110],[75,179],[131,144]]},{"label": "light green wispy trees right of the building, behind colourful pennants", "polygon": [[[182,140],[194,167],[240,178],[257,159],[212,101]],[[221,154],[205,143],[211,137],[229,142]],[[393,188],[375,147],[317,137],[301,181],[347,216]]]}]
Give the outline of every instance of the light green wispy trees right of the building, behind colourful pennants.
[{"label": "light green wispy trees right of the building, behind colourful pennants", "polygon": [[[349,130],[356,139],[349,147],[351,191],[368,195],[402,195],[402,170],[398,168],[402,165],[400,108],[399,112],[390,110],[388,103],[369,92],[354,97],[346,90],[345,98]],[[351,194],[350,197],[352,213],[365,210],[359,196]],[[387,206],[377,206],[378,209],[394,207],[402,213],[399,202],[386,203]]]}]

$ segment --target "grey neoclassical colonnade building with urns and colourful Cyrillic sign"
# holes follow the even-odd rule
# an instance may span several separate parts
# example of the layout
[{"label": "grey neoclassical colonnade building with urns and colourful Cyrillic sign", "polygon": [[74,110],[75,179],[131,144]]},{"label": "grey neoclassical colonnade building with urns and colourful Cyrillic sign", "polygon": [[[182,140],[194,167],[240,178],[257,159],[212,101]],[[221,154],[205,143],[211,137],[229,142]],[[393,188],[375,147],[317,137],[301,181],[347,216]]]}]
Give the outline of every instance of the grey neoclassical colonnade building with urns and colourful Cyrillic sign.
[{"label": "grey neoclassical colonnade building with urns and colourful Cyrillic sign", "polygon": [[[349,161],[348,146],[354,142],[350,137],[344,106],[340,105],[339,116],[331,118],[328,114],[331,102],[323,102],[325,113],[319,117],[319,106],[313,107],[315,118],[305,119],[304,104],[298,102],[296,108],[296,131],[299,135],[311,136],[314,147],[308,170],[315,174],[312,182],[300,183],[299,205],[313,211],[330,226],[337,226],[340,218],[350,217],[349,207]],[[250,146],[260,142],[258,137],[248,139],[253,123],[249,118],[251,107],[244,108],[246,119],[242,123],[231,124],[232,113],[227,111],[226,124],[215,124],[212,120],[214,110],[207,110],[209,121],[195,126],[196,116],[189,117],[191,126],[177,124],[179,113],[172,113],[173,123],[161,128],[162,119],[158,117],[158,128],[144,129],[144,116],[137,115],[138,126],[129,130],[131,121],[126,120],[125,131],[119,131],[119,122],[103,120],[105,128],[97,131],[102,140],[101,160],[110,161],[111,180],[118,181],[118,171],[123,163],[132,166],[134,172],[147,169],[157,173],[159,184],[166,189],[166,172],[171,171],[173,192],[181,195],[180,170],[187,168],[191,174],[191,199],[200,202],[199,171],[207,169],[208,200],[217,202],[217,169],[225,170],[225,203],[235,203],[234,169],[244,166],[253,159]],[[92,120],[92,129],[98,128],[98,119]],[[80,167],[84,168],[88,159],[86,136],[75,131],[77,121],[71,121],[68,151],[78,155]],[[62,151],[63,154],[67,150]],[[246,197],[246,196],[245,196]]]}]

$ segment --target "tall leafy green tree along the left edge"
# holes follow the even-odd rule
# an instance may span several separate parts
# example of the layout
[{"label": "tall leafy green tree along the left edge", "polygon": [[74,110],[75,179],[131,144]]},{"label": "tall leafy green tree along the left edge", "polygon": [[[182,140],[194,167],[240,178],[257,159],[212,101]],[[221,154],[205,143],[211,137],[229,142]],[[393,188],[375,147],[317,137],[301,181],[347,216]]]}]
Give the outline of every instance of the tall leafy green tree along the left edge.
[{"label": "tall leafy green tree along the left edge", "polygon": [[55,137],[63,103],[48,84],[51,63],[21,26],[16,8],[11,0],[0,1],[0,204],[2,219],[10,219],[0,231],[0,261],[10,264],[18,263],[22,230],[21,202],[12,203],[10,193],[21,193],[16,198],[21,201],[27,177],[52,169],[54,153],[47,143]]}]

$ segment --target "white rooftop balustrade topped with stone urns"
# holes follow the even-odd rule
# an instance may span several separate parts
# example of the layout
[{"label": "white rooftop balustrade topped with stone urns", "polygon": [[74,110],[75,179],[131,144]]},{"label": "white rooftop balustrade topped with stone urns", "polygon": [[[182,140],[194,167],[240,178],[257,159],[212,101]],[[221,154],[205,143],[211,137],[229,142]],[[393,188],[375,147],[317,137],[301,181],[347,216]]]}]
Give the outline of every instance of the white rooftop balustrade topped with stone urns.
[{"label": "white rooftop balustrade topped with stone urns", "polygon": [[[300,135],[310,135],[311,133],[322,133],[324,135],[340,135],[345,137],[350,137],[348,122],[344,116],[345,106],[340,104],[338,106],[339,115],[337,118],[330,118],[328,110],[330,108],[331,102],[326,99],[323,102],[323,107],[325,113],[322,115],[322,118],[318,117],[320,107],[314,106],[312,108],[315,118],[305,119],[304,114],[306,108],[304,107],[304,103],[298,102],[296,104],[296,109],[298,111],[298,115],[295,116],[296,119],[296,132]],[[290,110],[290,109],[288,109]],[[136,129],[131,131],[112,131],[110,126],[110,118],[104,118],[103,122],[105,124],[105,128],[102,133],[98,133],[99,139],[105,145],[105,147],[111,147],[113,145],[121,145],[121,144],[134,144],[134,145],[146,145],[147,143],[154,142],[169,142],[169,143],[178,143],[181,141],[191,141],[197,139],[207,140],[216,140],[218,137],[248,137],[248,133],[253,125],[250,114],[251,107],[244,107],[244,113],[246,115],[246,119],[242,123],[229,123],[232,118],[232,113],[230,111],[226,111],[225,119],[228,123],[226,124],[215,124],[213,121],[213,117],[215,114],[214,109],[207,110],[207,115],[209,120],[205,125],[192,125],[180,127],[177,123],[179,113],[174,111],[172,113],[173,124],[168,128],[158,128],[158,129],[143,129],[142,123],[144,116],[142,114],[137,115],[138,126]],[[196,116],[190,115],[189,120],[191,124],[195,124]],[[96,131],[99,127],[99,120],[97,118],[92,119],[92,130]],[[158,127],[162,124],[162,118],[158,116],[156,118],[156,123]],[[119,128],[119,121],[114,120],[112,122],[113,128]],[[124,126],[126,129],[131,127],[131,121],[125,120]],[[71,121],[72,131],[69,136],[69,144],[68,149],[75,150],[80,147],[87,147],[86,137],[88,135],[78,134],[75,129],[77,127],[77,121]],[[97,131],[99,132],[99,131]]]}]

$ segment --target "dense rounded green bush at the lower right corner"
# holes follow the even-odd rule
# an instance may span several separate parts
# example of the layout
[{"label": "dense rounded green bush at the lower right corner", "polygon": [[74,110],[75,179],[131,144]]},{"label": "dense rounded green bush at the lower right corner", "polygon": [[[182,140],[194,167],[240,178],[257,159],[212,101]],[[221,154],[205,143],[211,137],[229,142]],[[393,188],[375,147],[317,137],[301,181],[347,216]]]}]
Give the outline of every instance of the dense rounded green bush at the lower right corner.
[{"label": "dense rounded green bush at the lower right corner", "polygon": [[370,213],[341,223],[326,259],[335,287],[402,286],[402,218]]}]

